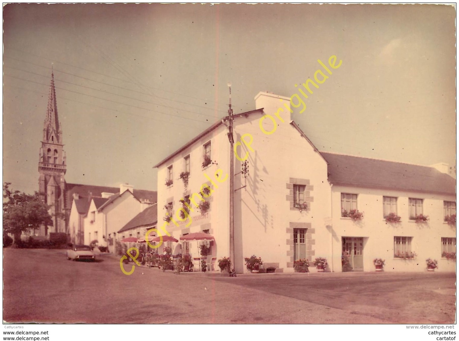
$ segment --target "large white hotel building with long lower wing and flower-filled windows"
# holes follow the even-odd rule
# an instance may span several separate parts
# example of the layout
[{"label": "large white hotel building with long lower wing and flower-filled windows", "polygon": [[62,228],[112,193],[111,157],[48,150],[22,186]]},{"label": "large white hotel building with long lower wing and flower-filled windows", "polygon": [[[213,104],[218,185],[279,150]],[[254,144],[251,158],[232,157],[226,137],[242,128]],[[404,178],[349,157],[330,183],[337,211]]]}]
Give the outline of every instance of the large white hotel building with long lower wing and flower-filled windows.
[{"label": "large white hotel building with long lower wing and flower-filled windows", "polygon": [[[442,257],[455,253],[456,228],[444,221],[455,215],[455,179],[444,169],[320,153],[301,129],[291,121],[290,99],[272,93],[258,93],[256,110],[234,115],[234,140],[250,134],[250,148],[237,146],[240,158],[248,155],[248,173],[235,158],[234,243],[235,270],[247,271],[244,258],[261,257],[265,268],[293,272],[293,262],[306,258],[310,270],[315,257],[328,260],[327,271],[341,271],[341,253],[348,251],[353,270],[374,271],[374,258],[386,260],[386,271],[425,271],[426,258],[437,259],[438,271],[454,271],[455,260]],[[282,103],[282,104],[283,104]],[[284,104],[283,104],[284,105]],[[282,106],[283,106],[282,105]],[[279,118],[275,114],[279,113]],[[272,115],[275,131],[260,129],[263,115]],[[159,162],[158,226],[166,212],[172,214],[166,230],[179,239],[187,233],[206,232],[213,257],[229,257],[229,160],[234,157],[228,141],[228,121],[210,126],[182,148]],[[264,130],[273,130],[271,119],[262,120]],[[250,138],[245,135],[246,141]],[[210,159],[210,164],[206,165]],[[203,166],[204,165],[204,166]],[[440,167],[437,167],[440,168]],[[217,170],[222,170],[215,176]],[[179,178],[189,172],[188,183]],[[208,176],[208,178],[207,178]],[[210,180],[209,180],[210,178]],[[205,198],[205,214],[192,201],[189,219],[179,221],[179,201],[187,196],[201,203],[197,195],[207,184],[213,192]],[[361,220],[343,217],[357,209]],[[390,212],[389,212],[390,211]],[[177,212],[177,213],[176,213]],[[386,223],[394,213],[398,223]],[[415,215],[429,220],[416,223]],[[187,226],[188,225],[188,226]],[[173,253],[198,256],[198,243],[172,243]],[[184,249],[185,248],[185,249]],[[416,253],[414,259],[397,257],[400,252]]]}]

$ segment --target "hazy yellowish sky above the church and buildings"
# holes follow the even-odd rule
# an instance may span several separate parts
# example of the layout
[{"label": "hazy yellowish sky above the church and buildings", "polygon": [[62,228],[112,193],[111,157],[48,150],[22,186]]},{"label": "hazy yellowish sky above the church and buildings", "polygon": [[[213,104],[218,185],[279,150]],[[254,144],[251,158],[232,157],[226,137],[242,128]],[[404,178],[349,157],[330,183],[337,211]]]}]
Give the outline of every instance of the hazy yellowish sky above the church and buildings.
[{"label": "hazy yellowish sky above the church and buildings", "polygon": [[320,151],[456,162],[455,9],[447,5],[8,4],[3,180],[38,190],[54,70],[68,183],[157,189],[153,168],[269,91],[342,60],[292,118]]}]

